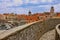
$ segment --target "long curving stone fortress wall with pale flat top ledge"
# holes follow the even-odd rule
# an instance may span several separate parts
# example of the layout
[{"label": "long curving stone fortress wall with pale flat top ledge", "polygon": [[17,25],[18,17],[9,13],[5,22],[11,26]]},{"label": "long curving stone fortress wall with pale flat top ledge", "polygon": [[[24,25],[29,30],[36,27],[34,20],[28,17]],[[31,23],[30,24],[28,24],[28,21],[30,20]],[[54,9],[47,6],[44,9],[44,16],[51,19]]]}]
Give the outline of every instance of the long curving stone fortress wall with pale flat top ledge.
[{"label": "long curving stone fortress wall with pale flat top ledge", "polygon": [[19,26],[1,34],[0,40],[39,40],[44,33],[54,29],[59,23],[60,19],[49,19]]}]

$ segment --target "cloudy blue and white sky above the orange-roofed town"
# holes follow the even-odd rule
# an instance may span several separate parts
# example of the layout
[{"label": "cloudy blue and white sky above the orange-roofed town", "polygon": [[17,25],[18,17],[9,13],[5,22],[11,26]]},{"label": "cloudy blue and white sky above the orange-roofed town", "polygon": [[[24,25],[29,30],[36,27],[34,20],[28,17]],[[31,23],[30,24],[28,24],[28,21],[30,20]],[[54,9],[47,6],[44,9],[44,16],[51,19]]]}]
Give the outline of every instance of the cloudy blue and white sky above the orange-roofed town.
[{"label": "cloudy blue and white sky above the orange-roofed town", "polygon": [[54,6],[55,12],[60,12],[60,0],[0,0],[0,13],[49,12],[51,6]]}]

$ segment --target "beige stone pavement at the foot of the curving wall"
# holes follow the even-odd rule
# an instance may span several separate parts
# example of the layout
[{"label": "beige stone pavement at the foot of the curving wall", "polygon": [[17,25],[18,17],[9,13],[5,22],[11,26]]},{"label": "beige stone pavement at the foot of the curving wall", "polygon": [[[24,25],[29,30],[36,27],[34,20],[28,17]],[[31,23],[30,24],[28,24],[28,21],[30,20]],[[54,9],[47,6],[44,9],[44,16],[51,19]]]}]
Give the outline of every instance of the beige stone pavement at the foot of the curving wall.
[{"label": "beige stone pavement at the foot of the curving wall", "polygon": [[40,40],[55,40],[55,30],[45,33]]}]

